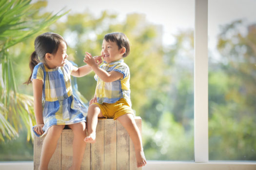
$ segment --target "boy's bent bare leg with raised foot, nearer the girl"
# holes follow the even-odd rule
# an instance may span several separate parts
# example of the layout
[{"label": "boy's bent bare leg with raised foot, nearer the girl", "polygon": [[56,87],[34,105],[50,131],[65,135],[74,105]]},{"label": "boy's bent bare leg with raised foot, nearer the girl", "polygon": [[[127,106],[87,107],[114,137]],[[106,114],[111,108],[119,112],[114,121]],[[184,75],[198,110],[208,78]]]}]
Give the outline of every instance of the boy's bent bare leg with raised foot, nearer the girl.
[{"label": "boy's bent bare leg with raised foot, nearer the girl", "polygon": [[91,104],[89,106],[88,114],[87,114],[87,118],[86,118],[88,136],[84,138],[84,142],[95,143],[98,117],[103,117],[98,105]]}]

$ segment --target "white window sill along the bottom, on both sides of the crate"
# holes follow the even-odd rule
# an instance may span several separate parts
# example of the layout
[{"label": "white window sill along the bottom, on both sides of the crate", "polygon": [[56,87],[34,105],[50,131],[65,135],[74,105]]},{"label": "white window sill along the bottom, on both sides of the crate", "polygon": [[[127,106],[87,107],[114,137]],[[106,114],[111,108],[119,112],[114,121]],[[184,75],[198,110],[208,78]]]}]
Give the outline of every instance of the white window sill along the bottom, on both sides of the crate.
[{"label": "white window sill along the bottom, on both sides of the crate", "polygon": [[[0,162],[0,170],[33,170],[33,161]],[[142,170],[256,170],[256,161],[147,161]]]}]

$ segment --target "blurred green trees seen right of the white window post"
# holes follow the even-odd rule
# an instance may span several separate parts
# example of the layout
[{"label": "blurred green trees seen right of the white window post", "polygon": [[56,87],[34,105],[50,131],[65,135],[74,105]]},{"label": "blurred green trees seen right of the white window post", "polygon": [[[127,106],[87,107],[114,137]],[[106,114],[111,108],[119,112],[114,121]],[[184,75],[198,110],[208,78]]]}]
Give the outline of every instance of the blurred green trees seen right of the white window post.
[{"label": "blurred green trees seen right of the white window post", "polygon": [[256,24],[223,26],[217,48],[221,61],[209,63],[209,158],[256,160]]}]

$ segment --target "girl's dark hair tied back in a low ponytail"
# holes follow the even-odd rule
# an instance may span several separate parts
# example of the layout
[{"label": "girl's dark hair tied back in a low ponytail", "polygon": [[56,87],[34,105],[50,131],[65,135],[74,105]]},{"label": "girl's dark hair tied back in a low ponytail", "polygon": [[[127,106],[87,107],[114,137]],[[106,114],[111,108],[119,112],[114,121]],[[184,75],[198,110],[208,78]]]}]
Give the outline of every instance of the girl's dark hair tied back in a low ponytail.
[{"label": "girl's dark hair tied back in a low ponytail", "polygon": [[[39,63],[42,62],[45,64],[45,54],[56,54],[59,48],[60,42],[65,42],[64,38],[56,33],[43,33],[39,35],[34,42],[35,51],[30,56],[29,61],[29,68],[31,70],[31,75],[29,76],[28,80],[24,82],[24,84],[31,83],[31,77],[33,73],[34,67]],[[67,43],[66,43],[67,44]]]}]

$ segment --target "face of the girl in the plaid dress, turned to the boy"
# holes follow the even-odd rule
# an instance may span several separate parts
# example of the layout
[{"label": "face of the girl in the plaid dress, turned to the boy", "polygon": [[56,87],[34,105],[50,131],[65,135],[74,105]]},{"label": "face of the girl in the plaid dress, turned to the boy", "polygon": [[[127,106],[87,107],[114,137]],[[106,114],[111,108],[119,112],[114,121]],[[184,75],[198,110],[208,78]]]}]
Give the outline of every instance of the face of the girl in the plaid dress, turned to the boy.
[{"label": "face of the girl in the plaid dress, turned to the boy", "polygon": [[67,55],[67,45],[65,42],[61,41],[59,43],[59,48],[55,55],[53,55],[53,58],[50,61],[50,65],[52,65],[53,68],[56,67],[62,67],[66,63]]}]

